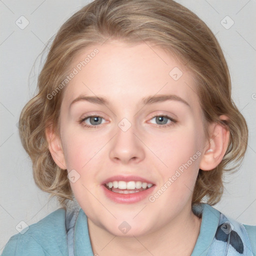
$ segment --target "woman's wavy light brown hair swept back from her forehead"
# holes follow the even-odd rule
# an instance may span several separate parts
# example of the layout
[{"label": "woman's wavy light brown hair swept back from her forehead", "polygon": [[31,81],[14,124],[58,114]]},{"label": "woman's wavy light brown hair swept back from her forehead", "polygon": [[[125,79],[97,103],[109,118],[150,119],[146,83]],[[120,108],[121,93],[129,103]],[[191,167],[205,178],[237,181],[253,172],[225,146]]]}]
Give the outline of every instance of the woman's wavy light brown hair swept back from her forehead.
[{"label": "woman's wavy light brown hair swept back from her forehead", "polygon": [[[218,122],[230,131],[222,161],[210,171],[199,169],[193,190],[192,203],[204,200],[214,205],[223,192],[224,171],[237,169],[244,156],[247,125],[231,99],[228,67],[215,36],[198,16],[172,0],[95,0],[60,27],[38,77],[38,94],[24,106],[19,119],[20,137],[32,160],[35,183],[56,195],[64,207],[72,200],[67,171],[53,161],[45,136],[47,125],[58,132],[64,89],[54,97],[47,95],[57,90],[80,50],[110,39],[156,45],[195,74],[205,123]],[[219,119],[222,114],[228,121]]]}]

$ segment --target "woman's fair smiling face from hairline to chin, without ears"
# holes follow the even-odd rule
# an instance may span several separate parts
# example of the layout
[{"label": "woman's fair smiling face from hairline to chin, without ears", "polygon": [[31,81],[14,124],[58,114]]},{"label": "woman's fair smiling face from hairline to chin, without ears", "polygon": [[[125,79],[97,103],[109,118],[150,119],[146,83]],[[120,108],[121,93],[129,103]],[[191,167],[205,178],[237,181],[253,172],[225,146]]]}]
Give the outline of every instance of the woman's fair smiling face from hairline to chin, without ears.
[{"label": "woman's fair smiling face from hairline to chin, without ears", "polygon": [[186,218],[205,146],[193,74],[160,48],[118,41],[84,49],[73,68],[60,142],[91,223],[138,236]]}]

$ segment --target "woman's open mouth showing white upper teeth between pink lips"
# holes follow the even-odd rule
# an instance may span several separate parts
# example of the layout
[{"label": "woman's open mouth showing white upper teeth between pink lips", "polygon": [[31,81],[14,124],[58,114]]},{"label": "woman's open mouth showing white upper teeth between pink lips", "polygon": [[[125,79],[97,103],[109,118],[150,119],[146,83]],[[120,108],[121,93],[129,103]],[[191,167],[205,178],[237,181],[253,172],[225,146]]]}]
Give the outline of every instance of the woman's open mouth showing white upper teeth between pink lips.
[{"label": "woman's open mouth showing white upper teeth between pink lips", "polygon": [[123,194],[131,194],[146,190],[153,186],[151,183],[146,183],[142,181],[122,181],[122,180],[114,180],[111,182],[107,182],[104,186],[115,193],[123,193]]}]

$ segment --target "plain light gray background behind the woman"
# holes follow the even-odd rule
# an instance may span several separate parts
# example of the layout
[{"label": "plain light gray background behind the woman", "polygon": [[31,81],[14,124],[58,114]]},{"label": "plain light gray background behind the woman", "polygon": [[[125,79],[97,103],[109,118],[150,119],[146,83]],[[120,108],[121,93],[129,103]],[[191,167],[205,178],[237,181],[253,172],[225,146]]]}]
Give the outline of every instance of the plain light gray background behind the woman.
[{"label": "plain light gray background behind the woman", "polygon": [[[232,97],[249,126],[243,164],[238,172],[225,177],[224,195],[214,207],[242,223],[256,225],[256,1],[177,2],[194,11],[216,35],[230,68]],[[41,67],[37,56],[59,26],[86,3],[0,0],[0,253],[17,233],[20,221],[30,225],[60,207],[55,198],[48,201],[48,194],[35,186],[16,125],[22,107],[34,95]],[[24,18],[21,24],[22,15],[29,22],[23,29],[19,27],[25,24]]]}]

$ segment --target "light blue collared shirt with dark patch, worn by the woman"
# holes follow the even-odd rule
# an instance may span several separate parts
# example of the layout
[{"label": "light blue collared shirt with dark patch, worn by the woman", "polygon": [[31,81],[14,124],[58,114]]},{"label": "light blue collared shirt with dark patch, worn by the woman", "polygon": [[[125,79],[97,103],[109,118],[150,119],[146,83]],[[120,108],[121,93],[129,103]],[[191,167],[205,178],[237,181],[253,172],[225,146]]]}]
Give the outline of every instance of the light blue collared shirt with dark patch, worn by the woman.
[{"label": "light blue collared shirt with dark patch, worn by the woman", "polygon": [[[243,225],[206,203],[193,205],[201,215],[191,256],[255,256],[256,226]],[[9,239],[2,256],[93,256],[87,217],[79,208],[59,208]]]}]

